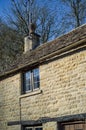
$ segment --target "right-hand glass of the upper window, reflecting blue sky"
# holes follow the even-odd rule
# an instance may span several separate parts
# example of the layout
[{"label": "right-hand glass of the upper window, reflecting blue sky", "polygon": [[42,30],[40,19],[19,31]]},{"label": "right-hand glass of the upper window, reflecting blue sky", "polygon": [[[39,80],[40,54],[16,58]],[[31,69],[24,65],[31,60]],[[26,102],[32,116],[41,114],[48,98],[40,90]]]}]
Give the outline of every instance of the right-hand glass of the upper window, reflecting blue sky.
[{"label": "right-hand glass of the upper window, reflecting blue sky", "polygon": [[33,70],[33,82],[34,82],[34,89],[39,88],[39,83],[40,79],[39,79],[39,69],[34,69]]}]

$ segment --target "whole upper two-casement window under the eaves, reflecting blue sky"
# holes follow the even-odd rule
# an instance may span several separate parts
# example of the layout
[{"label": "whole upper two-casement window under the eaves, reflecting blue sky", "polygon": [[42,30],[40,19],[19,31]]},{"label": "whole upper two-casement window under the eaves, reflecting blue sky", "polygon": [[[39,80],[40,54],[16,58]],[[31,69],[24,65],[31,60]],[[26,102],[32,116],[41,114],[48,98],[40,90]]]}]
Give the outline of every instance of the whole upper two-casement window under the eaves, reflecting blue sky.
[{"label": "whole upper two-casement window under the eaves, reflecting blue sky", "polygon": [[24,85],[23,85],[24,93],[39,89],[40,87],[39,68],[26,71],[23,75],[23,79],[24,79]]}]

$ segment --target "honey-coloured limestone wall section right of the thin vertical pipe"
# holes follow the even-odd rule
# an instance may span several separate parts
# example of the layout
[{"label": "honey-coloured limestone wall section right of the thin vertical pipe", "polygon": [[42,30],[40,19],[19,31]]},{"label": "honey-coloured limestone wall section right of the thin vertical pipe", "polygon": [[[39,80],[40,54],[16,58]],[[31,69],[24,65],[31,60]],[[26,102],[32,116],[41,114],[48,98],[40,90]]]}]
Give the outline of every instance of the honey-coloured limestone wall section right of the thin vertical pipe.
[{"label": "honey-coloured limestone wall section right of the thin vertical pipe", "polygon": [[40,66],[41,94],[21,98],[23,120],[86,112],[86,51]]}]

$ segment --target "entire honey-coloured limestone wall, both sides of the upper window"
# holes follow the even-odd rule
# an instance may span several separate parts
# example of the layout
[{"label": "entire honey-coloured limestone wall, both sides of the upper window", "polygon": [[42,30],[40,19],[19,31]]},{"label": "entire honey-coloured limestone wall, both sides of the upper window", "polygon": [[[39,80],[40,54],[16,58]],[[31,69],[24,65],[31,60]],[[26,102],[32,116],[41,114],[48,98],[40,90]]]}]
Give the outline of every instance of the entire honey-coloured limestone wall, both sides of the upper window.
[{"label": "entire honey-coloured limestone wall, both sides of the upper window", "polygon": [[21,96],[21,74],[0,81],[0,130],[20,130],[20,126],[7,126],[7,122],[20,118],[37,120],[86,113],[85,50],[39,68],[42,93]]}]

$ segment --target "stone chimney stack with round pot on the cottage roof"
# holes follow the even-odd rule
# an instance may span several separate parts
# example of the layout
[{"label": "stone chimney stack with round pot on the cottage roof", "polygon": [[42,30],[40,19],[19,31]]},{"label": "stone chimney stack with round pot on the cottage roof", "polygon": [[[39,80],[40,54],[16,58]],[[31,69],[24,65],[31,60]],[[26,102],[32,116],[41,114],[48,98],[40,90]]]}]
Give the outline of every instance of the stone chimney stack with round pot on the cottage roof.
[{"label": "stone chimney stack with round pot on the cottage roof", "polygon": [[36,26],[31,23],[29,36],[24,38],[24,53],[31,51],[40,45],[40,35],[35,33]]}]

